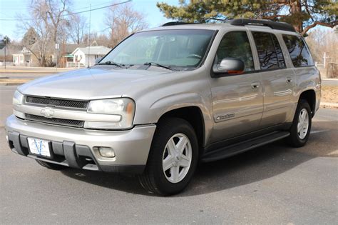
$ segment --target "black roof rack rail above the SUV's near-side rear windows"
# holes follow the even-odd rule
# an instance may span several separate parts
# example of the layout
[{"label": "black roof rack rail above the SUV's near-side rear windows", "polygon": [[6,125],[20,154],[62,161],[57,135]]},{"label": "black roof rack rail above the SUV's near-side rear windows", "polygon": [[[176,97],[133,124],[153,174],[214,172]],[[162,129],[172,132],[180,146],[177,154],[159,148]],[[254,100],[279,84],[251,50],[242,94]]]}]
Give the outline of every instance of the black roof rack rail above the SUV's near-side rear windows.
[{"label": "black roof rack rail above the SUV's near-side rear windows", "polygon": [[272,29],[282,30],[282,31],[292,31],[296,32],[295,28],[285,22],[274,22],[268,19],[233,19],[230,21],[231,25],[235,26],[245,26],[245,25],[260,25],[260,26],[269,26]]}]

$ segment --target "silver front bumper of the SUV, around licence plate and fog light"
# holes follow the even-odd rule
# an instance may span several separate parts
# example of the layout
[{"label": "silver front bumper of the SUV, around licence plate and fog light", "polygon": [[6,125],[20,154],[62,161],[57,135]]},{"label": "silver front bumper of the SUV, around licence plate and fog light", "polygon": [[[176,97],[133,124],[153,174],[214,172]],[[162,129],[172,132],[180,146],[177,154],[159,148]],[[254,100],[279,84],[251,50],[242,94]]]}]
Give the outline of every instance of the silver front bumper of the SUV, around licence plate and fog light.
[{"label": "silver front bumper of the SUV, around licence plate and fog light", "polygon": [[[25,121],[11,115],[6,131],[12,151],[33,159],[78,169],[140,174],[147,163],[155,125],[128,131],[94,131]],[[50,141],[52,159],[29,153],[27,137]],[[101,156],[94,147],[114,149],[114,158]]]}]

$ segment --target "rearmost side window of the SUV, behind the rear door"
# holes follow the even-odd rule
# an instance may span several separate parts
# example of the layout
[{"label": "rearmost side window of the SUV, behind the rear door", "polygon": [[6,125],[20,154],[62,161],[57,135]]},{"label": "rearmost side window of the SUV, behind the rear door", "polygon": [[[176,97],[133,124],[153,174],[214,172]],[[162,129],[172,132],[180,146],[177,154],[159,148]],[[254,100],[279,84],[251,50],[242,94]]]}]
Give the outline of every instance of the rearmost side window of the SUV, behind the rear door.
[{"label": "rearmost side window of the SUV, behind the rear door", "polygon": [[295,67],[313,66],[312,56],[304,40],[300,36],[283,35],[292,64]]}]

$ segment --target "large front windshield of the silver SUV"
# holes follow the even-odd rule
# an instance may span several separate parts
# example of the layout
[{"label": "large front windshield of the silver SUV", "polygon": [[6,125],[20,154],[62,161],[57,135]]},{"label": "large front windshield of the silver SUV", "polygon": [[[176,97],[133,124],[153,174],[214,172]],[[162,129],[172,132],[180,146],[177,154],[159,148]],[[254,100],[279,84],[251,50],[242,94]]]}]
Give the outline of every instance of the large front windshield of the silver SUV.
[{"label": "large front windshield of the silver SUV", "polygon": [[100,64],[195,68],[203,60],[214,32],[184,29],[136,33],[116,46]]}]

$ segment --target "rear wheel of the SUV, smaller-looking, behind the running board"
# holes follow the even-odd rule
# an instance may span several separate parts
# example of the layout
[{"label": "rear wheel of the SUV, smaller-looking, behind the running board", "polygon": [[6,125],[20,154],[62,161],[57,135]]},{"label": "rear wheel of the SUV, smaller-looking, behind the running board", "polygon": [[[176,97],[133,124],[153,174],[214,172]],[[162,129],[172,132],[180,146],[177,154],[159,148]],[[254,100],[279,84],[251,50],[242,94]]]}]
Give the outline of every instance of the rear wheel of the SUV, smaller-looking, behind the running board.
[{"label": "rear wheel of the SUV, smaller-looking, behind the running board", "polygon": [[[305,122],[302,121],[302,118]],[[292,126],[290,128],[290,136],[287,139],[288,143],[296,148],[302,147],[307,144],[307,140],[309,139],[309,134],[311,131],[311,125],[312,114],[309,103],[304,99],[299,99],[295,117],[292,121]]]}]

